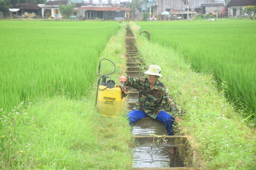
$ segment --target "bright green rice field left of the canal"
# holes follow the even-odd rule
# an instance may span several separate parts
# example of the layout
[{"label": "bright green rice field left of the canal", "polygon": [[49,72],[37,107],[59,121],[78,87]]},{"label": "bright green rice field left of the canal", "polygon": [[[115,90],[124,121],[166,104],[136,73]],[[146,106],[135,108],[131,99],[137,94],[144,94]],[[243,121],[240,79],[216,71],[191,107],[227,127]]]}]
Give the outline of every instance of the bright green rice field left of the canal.
[{"label": "bright green rice field left of the canal", "polygon": [[0,21],[0,109],[85,96],[117,22]]}]

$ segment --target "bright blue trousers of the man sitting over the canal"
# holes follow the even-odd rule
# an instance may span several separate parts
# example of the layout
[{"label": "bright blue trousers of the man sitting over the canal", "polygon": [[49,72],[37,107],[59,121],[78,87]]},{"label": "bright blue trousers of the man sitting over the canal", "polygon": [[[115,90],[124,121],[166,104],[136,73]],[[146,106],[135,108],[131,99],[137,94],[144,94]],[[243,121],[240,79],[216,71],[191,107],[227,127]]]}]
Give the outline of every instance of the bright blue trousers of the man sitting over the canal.
[{"label": "bright blue trousers of the man sitting over the canal", "polygon": [[[128,119],[130,120],[130,125],[133,126],[133,122],[136,122],[136,120],[150,116],[148,116],[148,114],[146,114],[145,111],[133,110],[130,113],[128,113],[126,117],[128,117]],[[161,111],[157,115],[156,119],[165,123],[168,135],[173,135],[172,124],[174,123],[174,119],[170,114],[168,114],[166,111]]]}]

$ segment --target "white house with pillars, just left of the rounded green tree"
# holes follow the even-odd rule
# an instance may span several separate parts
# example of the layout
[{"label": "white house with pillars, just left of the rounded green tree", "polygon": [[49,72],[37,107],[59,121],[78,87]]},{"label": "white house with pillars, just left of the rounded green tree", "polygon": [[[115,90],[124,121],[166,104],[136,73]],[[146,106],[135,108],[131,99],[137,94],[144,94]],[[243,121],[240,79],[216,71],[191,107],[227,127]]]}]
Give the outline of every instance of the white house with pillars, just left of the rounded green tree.
[{"label": "white house with pillars, just left of the rounded green tree", "polygon": [[53,18],[62,18],[59,13],[59,4],[62,5],[72,5],[73,3],[68,1],[48,1],[44,6],[42,6],[42,17],[50,17]]}]

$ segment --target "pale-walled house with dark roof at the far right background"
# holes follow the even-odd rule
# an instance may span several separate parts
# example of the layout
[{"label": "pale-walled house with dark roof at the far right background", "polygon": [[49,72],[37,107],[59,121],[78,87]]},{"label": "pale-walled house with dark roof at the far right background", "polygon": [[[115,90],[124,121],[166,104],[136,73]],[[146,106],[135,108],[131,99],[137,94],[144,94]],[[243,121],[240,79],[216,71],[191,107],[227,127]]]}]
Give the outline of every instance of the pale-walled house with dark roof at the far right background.
[{"label": "pale-walled house with dark roof at the far right background", "polygon": [[255,5],[255,3],[256,0],[231,0],[227,5],[228,15],[234,18],[241,15],[248,16],[248,14],[244,14],[243,12],[244,7],[248,5]]}]

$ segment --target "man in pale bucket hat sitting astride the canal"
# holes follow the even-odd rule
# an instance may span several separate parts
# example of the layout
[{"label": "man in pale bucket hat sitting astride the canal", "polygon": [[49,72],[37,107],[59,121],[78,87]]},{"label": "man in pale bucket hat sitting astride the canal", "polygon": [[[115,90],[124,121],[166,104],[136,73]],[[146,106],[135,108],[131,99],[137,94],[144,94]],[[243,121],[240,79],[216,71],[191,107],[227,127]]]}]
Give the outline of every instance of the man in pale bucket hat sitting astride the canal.
[{"label": "man in pale bucket hat sitting astride the canal", "polygon": [[[149,66],[148,71],[144,72],[148,77],[133,78],[121,76],[119,81],[126,83],[126,86],[133,87],[139,91],[138,101],[133,110],[126,115],[130,120],[130,125],[133,122],[143,117],[152,117],[165,123],[168,135],[173,135],[172,125],[174,121],[182,121],[179,119],[178,108],[169,93],[169,89],[163,84],[159,77],[161,75],[161,68],[157,65]],[[162,101],[166,102],[171,114],[167,113],[162,108]],[[174,147],[170,147],[174,153]]]}]

